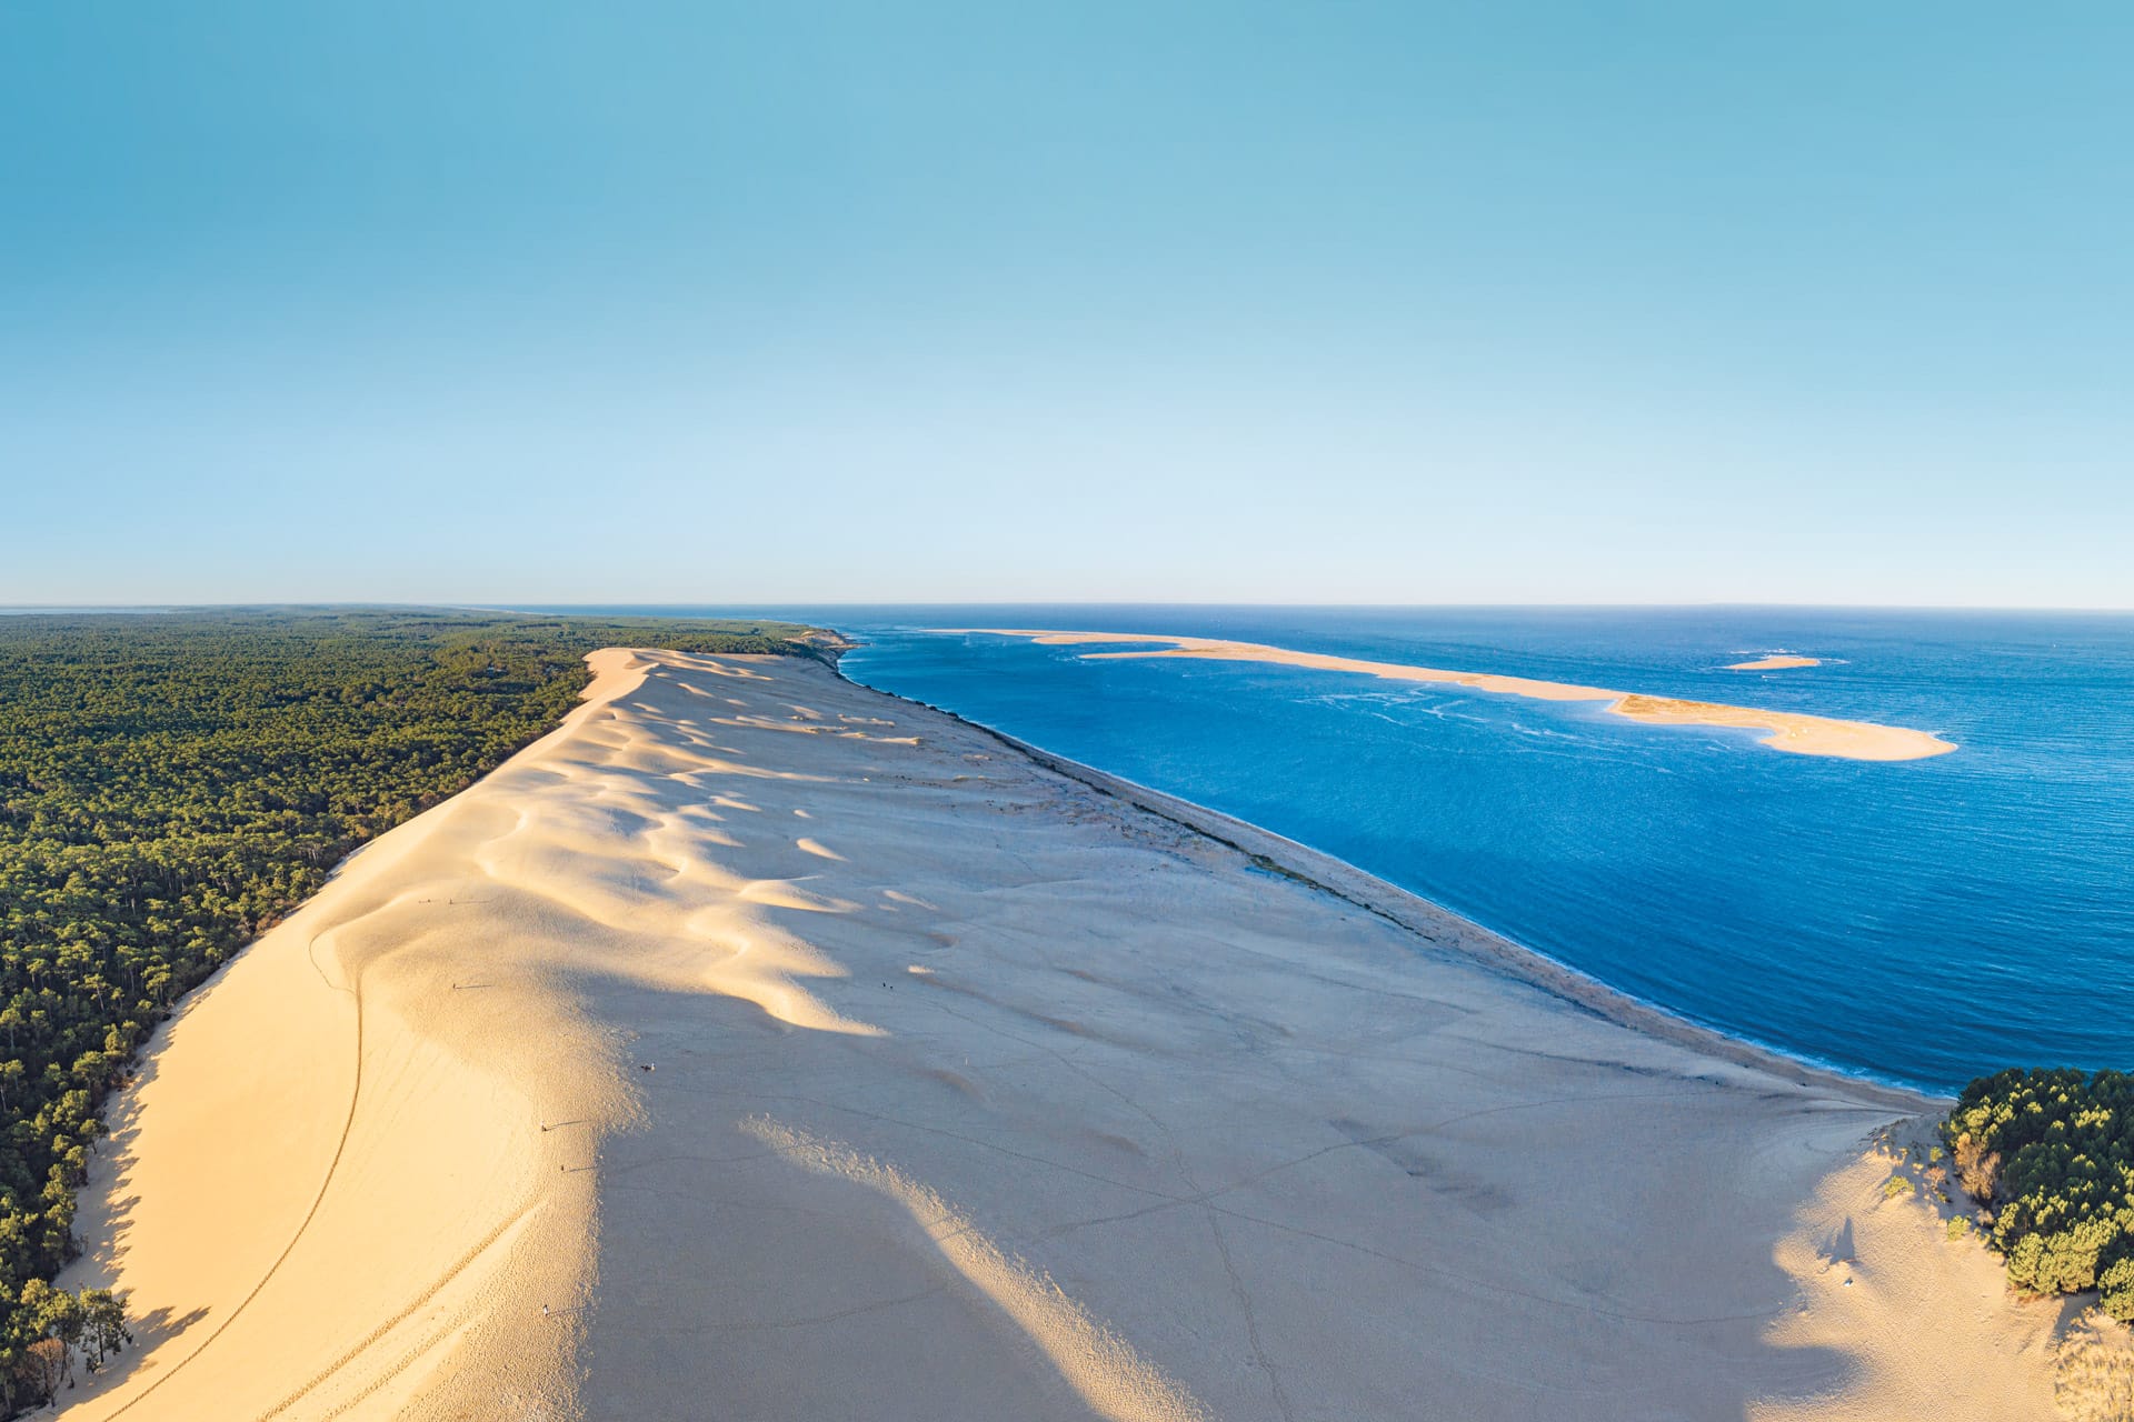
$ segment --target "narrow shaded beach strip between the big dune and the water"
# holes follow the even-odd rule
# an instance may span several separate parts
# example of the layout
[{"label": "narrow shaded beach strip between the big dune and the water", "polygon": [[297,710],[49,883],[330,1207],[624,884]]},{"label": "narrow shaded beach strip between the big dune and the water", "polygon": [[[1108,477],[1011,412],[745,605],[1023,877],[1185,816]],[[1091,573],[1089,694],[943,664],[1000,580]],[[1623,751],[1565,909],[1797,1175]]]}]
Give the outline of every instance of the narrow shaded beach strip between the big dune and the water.
[{"label": "narrow shaded beach strip between the big dune and the water", "polygon": [[1867,1072],[1846,1070],[1831,1062],[1816,1062],[1784,1047],[1773,1047],[1737,1036],[1722,1028],[1711,1028],[1658,1002],[1609,987],[1600,979],[1549,957],[1541,949],[1530,949],[1524,942],[1500,934],[1485,923],[1477,923],[1475,919],[1447,908],[1432,898],[1415,893],[1413,889],[1402,889],[1389,878],[1357,868],[1338,855],[1312,849],[1302,840],[1291,840],[1274,829],[1265,829],[1233,814],[1225,814],[1223,810],[1184,799],[1182,795],[1172,795],[1137,780],[1114,776],[1112,772],[1084,761],[1056,755],[1044,746],[1009,736],[1007,731],[986,725],[984,721],[973,721],[945,706],[935,706],[933,701],[922,701],[920,697],[907,697],[898,691],[871,686],[843,669],[841,655],[826,659],[826,665],[839,678],[860,686],[862,691],[892,697],[909,706],[920,706],[967,725],[973,731],[1001,742],[1016,755],[1026,757],[1035,765],[1050,770],[1052,774],[1078,780],[1103,795],[1110,795],[1112,799],[1182,825],[1227,849],[1236,849],[1238,853],[1261,863],[1261,868],[1289,874],[1321,893],[1329,893],[1347,904],[1370,910],[1415,934],[1438,951],[1464,955],[1492,972],[1526,983],[1528,987],[1539,987],[1551,998],[1594,1013],[1615,1025],[1643,1032],[1645,1036],[1654,1036],[1677,1047],[1688,1047],[1690,1051],[1699,1051],[1735,1066],[1748,1066],[1773,1077],[1784,1077],[1803,1087],[1867,1092],[1878,1096],[1878,1104],[1886,1102],[1891,1109],[1904,1111],[1906,1115],[1946,1113],[1946,1109],[1955,1104],[1955,1096],[1940,1096],[1901,1081],[1884,1081]]}]

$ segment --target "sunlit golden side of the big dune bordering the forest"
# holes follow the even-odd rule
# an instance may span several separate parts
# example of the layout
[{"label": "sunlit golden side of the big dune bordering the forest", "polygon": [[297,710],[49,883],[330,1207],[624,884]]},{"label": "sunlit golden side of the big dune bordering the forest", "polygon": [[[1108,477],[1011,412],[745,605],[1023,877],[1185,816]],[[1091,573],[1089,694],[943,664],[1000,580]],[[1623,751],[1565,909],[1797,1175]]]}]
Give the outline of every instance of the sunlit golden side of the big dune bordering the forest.
[{"label": "sunlit golden side of the big dune bordering the forest", "polygon": [[854,906],[798,866],[728,868],[711,802],[672,804],[676,774],[809,776],[632,704],[674,659],[587,661],[561,729],[365,846],[158,1036],[107,1147],[120,1190],[81,1222],[143,1347],[70,1418],[459,1416],[463,1379],[499,1375],[504,1403],[572,1416],[595,1162],[638,1087],[570,983],[879,1034],[807,987],[845,968],[773,917]]}]

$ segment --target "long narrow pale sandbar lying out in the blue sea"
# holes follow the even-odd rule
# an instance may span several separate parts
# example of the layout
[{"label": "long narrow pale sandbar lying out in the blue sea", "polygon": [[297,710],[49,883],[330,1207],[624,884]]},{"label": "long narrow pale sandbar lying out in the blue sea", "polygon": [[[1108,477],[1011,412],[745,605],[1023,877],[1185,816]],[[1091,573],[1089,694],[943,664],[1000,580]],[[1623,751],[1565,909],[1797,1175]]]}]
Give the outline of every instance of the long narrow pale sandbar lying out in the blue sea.
[{"label": "long narrow pale sandbar lying out in the blue sea", "polygon": [[[1748,706],[1720,706],[1716,701],[1682,701],[1675,697],[1647,697],[1626,691],[1605,691],[1600,686],[1579,686],[1573,682],[1545,682],[1528,676],[1496,676],[1490,672],[1445,672],[1440,667],[1411,667],[1398,661],[1364,661],[1357,657],[1329,657],[1325,652],[1297,652],[1259,642],[1223,642],[1216,637],[1163,637],[1112,631],[1044,631],[1029,627],[943,627],[947,633],[988,633],[994,637],[1031,637],[1048,646],[1086,646],[1103,642],[1161,642],[1161,648],[1137,652],[1086,652],[1086,657],[1191,657],[1199,661],[1261,661],[1283,667],[1312,667],[1317,672],[1357,672],[1389,682],[1445,682],[1496,691],[1502,695],[1528,697],[1534,701],[1607,701],[1615,716],[1643,721],[1647,725],[1714,725],[1769,731],[1761,744],[1793,755],[1829,755],[1846,761],[1916,761],[1929,755],[1948,755],[1957,746],[1927,731],[1912,731],[1895,725],[1874,725],[1872,721],[1837,721],[1831,716],[1807,716],[1801,712],[1756,710]],[[1814,665],[1814,663],[1788,663]],[[1748,669],[1748,663],[1731,669]]]}]

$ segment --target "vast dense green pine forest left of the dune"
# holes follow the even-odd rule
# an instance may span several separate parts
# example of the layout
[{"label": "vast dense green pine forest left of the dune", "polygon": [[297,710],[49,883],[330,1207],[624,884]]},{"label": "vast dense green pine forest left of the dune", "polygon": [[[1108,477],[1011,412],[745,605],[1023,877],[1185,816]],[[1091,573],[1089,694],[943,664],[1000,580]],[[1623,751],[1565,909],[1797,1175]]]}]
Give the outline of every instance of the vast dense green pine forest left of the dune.
[{"label": "vast dense green pine forest left of the dune", "polygon": [[557,725],[602,646],[783,623],[403,610],[0,616],[0,1418],[132,1341],[66,1294],[105,1096],[177,1000],[365,840]]}]

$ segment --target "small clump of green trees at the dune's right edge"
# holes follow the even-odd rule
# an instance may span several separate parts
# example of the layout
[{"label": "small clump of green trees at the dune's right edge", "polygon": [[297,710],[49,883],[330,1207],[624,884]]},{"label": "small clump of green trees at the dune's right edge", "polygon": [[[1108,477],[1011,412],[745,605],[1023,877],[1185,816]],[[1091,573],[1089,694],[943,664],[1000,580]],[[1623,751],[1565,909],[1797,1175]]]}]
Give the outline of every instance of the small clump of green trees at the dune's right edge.
[{"label": "small clump of green trees at the dune's right edge", "polygon": [[2134,1077],[2006,1070],[1942,1121],[1957,1183],[2025,1294],[2098,1290],[2134,1322]]}]

